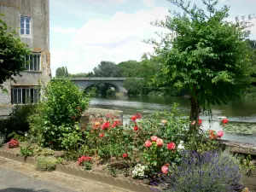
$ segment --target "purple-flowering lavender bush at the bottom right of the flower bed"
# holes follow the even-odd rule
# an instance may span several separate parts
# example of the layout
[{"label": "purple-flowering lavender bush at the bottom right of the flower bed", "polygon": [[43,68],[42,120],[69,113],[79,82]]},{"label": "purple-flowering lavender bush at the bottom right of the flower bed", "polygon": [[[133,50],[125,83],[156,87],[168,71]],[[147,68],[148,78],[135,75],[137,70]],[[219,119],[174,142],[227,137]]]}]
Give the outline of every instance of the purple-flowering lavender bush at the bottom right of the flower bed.
[{"label": "purple-flowering lavender bush at the bottom right of the flower bed", "polygon": [[227,151],[183,152],[180,165],[172,166],[167,191],[241,191],[240,162]]}]

